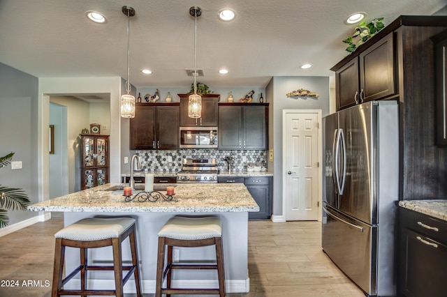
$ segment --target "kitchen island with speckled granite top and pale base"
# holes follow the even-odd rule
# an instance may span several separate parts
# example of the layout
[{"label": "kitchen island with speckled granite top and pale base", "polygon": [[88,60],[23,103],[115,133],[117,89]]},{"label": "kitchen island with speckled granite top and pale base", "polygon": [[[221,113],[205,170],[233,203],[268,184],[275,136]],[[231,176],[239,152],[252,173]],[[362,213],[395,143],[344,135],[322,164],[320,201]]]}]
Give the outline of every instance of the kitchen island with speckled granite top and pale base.
[{"label": "kitchen island with speckled granite top and pale base", "polygon": [[[64,225],[67,226],[82,218],[130,216],[137,220],[138,256],[142,290],[154,293],[156,279],[157,233],[174,215],[217,215],[222,222],[223,257],[225,263],[226,291],[245,293],[249,291],[248,274],[248,213],[259,211],[247,188],[241,183],[194,183],[177,184],[175,195],[170,201],[160,197],[157,201],[124,201],[119,184],[101,185],[89,190],[50,199],[33,204],[29,211],[64,212]],[[163,185],[166,186],[166,185]],[[154,190],[161,185],[154,185]],[[166,191],[160,190],[163,195]],[[135,195],[137,192],[133,192]],[[124,263],[130,261],[129,243],[123,244]],[[179,261],[182,259],[212,260],[214,247],[175,248]],[[176,252],[175,252],[176,253]],[[89,250],[89,259],[94,264],[112,261],[112,249],[96,248]],[[67,271],[79,264],[78,250],[66,250]],[[91,288],[112,287],[112,275],[104,272],[91,272]],[[79,280],[68,283],[78,286]],[[179,271],[173,275],[173,287],[217,287],[217,273],[214,271]],[[124,287],[126,293],[134,293],[135,286],[130,280]]]}]

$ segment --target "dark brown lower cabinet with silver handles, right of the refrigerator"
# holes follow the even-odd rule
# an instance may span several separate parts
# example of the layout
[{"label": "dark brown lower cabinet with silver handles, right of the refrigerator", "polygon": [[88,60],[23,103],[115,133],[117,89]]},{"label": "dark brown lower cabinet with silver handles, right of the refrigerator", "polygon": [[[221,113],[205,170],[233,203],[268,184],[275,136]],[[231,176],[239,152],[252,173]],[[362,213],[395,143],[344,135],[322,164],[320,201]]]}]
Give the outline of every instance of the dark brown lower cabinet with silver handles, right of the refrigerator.
[{"label": "dark brown lower cabinet with silver handles, right of the refrigerator", "polygon": [[447,222],[399,208],[399,291],[402,296],[446,296]]}]

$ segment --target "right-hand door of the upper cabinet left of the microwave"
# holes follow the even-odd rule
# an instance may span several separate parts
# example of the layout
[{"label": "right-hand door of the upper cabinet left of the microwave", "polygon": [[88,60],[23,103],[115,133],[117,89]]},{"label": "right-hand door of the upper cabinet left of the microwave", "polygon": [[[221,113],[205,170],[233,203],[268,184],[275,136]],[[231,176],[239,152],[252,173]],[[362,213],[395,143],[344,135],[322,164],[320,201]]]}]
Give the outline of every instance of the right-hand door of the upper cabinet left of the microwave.
[{"label": "right-hand door of the upper cabinet left of the microwave", "polygon": [[156,148],[179,148],[179,106],[156,107]]}]

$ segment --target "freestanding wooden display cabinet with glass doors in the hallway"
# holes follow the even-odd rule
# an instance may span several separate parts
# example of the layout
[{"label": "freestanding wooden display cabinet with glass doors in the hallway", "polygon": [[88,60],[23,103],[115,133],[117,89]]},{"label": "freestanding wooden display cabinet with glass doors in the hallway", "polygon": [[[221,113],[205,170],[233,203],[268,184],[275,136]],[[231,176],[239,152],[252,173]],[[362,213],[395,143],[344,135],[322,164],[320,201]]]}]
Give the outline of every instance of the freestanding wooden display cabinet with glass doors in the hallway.
[{"label": "freestanding wooden display cabinet with glass doors in the hallway", "polygon": [[81,134],[81,190],[109,182],[109,135]]}]

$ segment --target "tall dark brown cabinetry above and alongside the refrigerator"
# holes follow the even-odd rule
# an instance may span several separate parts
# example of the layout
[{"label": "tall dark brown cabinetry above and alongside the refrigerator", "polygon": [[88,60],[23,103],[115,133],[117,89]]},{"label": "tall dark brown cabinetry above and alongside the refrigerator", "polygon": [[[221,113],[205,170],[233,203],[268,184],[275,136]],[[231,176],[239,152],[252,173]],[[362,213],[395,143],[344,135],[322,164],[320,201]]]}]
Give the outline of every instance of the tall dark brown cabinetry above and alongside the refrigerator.
[{"label": "tall dark brown cabinetry above and alongside the refrigerator", "polygon": [[[432,40],[446,29],[447,16],[401,15],[331,68],[340,72],[335,77],[337,109],[355,104],[355,91],[342,95],[352,82],[358,83],[359,94],[363,89],[364,100],[399,102],[401,200],[447,197],[447,149],[437,145],[436,137],[438,127],[444,130],[439,122],[444,115],[437,116],[437,100],[442,97],[437,96],[441,78],[435,65],[440,64]],[[358,77],[349,81],[349,72],[356,73],[355,63]],[[352,70],[346,70],[349,66]]]}]

